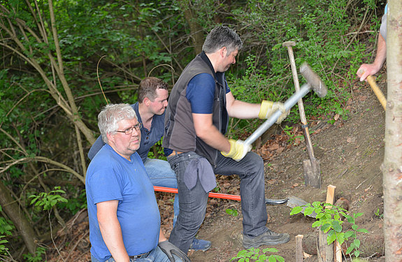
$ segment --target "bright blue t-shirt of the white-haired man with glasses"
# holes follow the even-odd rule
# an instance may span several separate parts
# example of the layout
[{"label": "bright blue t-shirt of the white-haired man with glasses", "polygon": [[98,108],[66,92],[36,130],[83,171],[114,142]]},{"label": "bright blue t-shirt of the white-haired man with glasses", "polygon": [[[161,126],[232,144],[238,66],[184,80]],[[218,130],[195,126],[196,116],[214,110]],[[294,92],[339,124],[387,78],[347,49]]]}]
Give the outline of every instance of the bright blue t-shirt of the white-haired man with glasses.
[{"label": "bright blue t-shirt of the white-haired man with glasses", "polygon": [[161,225],[154,189],[137,153],[131,161],[104,145],[89,163],[85,177],[91,254],[103,262],[111,254],[106,247],[96,216],[96,203],[118,200],[117,219],[129,256],[157,247]]}]

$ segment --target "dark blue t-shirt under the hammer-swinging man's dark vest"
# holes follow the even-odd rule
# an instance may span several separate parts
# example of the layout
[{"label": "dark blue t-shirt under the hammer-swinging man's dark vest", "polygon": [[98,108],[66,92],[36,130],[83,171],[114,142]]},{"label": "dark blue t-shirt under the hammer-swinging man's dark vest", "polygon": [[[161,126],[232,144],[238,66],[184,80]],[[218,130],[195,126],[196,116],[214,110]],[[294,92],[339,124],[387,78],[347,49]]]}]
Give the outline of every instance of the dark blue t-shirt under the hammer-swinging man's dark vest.
[{"label": "dark blue t-shirt under the hammer-swinging man's dark vest", "polygon": [[[227,81],[224,80],[226,94],[230,92]],[[215,99],[215,79],[208,73],[200,73],[189,81],[186,89],[186,98],[196,114],[212,114]]]}]

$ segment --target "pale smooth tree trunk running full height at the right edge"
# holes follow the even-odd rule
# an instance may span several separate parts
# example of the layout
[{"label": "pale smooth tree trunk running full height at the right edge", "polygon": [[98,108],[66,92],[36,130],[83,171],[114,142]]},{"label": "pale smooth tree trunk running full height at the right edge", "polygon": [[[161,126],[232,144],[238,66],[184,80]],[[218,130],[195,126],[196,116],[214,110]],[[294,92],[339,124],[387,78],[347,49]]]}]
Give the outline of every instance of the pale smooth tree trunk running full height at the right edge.
[{"label": "pale smooth tree trunk running full height at the right edge", "polygon": [[387,13],[387,111],[384,188],[385,261],[402,261],[402,2],[389,0]]}]

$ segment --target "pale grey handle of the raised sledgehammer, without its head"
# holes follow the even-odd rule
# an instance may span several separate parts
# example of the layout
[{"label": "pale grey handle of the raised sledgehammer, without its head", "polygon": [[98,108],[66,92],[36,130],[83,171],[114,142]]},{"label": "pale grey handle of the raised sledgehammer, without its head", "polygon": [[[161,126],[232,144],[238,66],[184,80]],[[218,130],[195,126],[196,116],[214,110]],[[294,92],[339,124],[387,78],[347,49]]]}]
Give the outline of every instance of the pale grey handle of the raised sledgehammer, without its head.
[{"label": "pale grey handle of the raised sledgehammer, without its head", "polygon": [[[289,97],[289,99],[287,99],[287,101],[285,101],[285,103],[283,104],[285,106],[285,109],[290,110],[290,108],[292,108],[292,106],[296,105],[296,103],[297,103],[297,101],[299,101],[299,99],[301,99],[303,96],[306,96],[306,94],[308,92],[310,92],[310,89],[311,89],[311,86],[309,84],[304,84],[301,87],[299,92],[294,93],[292,96]],[[257,140],[257,138],[259,138],[266,130],[268,130],[273,124],[275,124],[275,122],[278,120],[280,115],[282,115],[282,112],[280,112],[280,110],[277,110],[276,112],[274,112],[271,115],[271,117],[266,119],[265,122],[263,124],[261,124],[261,126],[259,126],[259,128],[256,129],[254,131],[254,133],[252,133],[244,141],[244,143],[246,145],[251,145],[252,143],[254,143],[254,141]]]}]

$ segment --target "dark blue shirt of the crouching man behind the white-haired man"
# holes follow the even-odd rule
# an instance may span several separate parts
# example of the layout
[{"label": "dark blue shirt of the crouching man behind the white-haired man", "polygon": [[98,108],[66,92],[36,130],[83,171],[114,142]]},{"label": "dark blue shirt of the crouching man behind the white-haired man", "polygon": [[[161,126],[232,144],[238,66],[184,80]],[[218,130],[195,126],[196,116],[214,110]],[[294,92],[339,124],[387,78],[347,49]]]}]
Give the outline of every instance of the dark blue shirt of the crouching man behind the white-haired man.
[{"label": "dark blue shirt of the crouching man behind the white-haired man", "polygon": [[[142,123],[141,115],[138,111],[138,102],[134,105],[131,105],[131,107],[136,112],[138,122]],[[141,143],[137,153],[140,155],[141,159],[143,159],[144,163],[145,160],[147,160],[148,152],[150,152],[152,145],[155,145],[164,135],[165,112],[162,115],[154,115],[152,117],[151,130],[145,129],[144,126],[141,127]],[[89,159],[92,160],[95,157],[95,154],[101,150],[103,145],[105,145],[105,143],[103,143],[102,137],[99,136],[94,145],[92,145],[91,149],[89,149]]]}]

